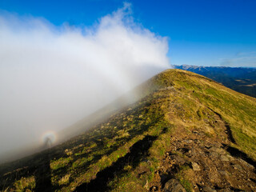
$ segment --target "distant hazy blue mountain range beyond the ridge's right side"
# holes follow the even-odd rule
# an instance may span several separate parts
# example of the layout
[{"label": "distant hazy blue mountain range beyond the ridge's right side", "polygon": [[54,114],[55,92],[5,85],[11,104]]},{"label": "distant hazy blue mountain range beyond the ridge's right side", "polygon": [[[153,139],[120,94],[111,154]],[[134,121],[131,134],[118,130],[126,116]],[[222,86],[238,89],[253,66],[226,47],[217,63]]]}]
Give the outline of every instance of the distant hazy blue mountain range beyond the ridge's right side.
[{"label": "distant hazy blue mountain range beyond the ridge's right side", "polygon": [[202,74],[232,90],[256,98],[256,67],[174,65],[174,68]]}]

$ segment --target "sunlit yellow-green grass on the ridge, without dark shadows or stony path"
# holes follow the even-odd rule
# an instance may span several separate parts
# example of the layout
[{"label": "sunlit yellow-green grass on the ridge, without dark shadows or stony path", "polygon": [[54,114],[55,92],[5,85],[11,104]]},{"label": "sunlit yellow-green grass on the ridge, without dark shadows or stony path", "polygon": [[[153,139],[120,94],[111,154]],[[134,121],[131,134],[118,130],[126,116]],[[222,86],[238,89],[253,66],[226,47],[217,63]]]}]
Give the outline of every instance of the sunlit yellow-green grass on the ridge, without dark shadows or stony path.
[{"label": "sunlit yellow-green grass on the ridge, without dark shadows or stony path", "polygon": [[[49,152],[54,189],[72,191],[90,182],[99,172],[125,157],[136,142],[150,135],[157,139],[150,146],[148,156],[136,167],[132,166],[133,162],[127,163],[118,177],[108,183],[113,191],[146,190],[144,186],[152,182],[154,171],[170,146],[171,134],[201,130],[208,137],[218,138],[221,130],[213,111],[229,123],[236,142],[233,145],[256,160],[256,98],[183,70],[166,70],[137,90],[141,90],[142,99],[134,105],[119,110],[106,122]],[[186,179],[180,180],[189,189]],[[13,181],[10,186],[27,183],[32,180]]]}]

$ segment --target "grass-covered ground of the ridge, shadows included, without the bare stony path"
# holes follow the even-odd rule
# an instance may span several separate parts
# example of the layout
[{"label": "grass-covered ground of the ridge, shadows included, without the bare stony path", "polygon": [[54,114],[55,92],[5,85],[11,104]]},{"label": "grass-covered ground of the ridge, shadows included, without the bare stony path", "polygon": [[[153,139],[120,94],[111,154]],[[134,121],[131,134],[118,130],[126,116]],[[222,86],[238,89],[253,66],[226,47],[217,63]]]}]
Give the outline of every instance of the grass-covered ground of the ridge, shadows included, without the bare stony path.
[{"label": "grass-covered ground of the ridge, shadows included, without the bare stony path", "polygon": [[[145,97],[106,122],[50,150],[0,166],[0,189],[149,190],[172,135],[200,130],[208,138],[221,138],[217,116],[230,126],[234,142],[226,143],[256,160],[255,98],[183,70],[166,70],[137,90]],[[182,173],[177,177],[189,191]]]}]

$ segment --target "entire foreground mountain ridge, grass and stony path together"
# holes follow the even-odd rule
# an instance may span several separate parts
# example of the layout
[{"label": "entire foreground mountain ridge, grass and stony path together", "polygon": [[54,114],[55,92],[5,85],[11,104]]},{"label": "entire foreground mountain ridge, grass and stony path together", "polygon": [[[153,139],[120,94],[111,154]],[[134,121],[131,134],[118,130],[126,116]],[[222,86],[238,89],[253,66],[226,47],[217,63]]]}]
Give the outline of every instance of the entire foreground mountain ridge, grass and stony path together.
[{"label": "entire foreground mountain ridge, grass and stony path together", "polygon": [[[3,190],[256,190],[256,99],[183,70],[84,134],[0,166]],[[1,189],[0,188],[0,189]]]}]

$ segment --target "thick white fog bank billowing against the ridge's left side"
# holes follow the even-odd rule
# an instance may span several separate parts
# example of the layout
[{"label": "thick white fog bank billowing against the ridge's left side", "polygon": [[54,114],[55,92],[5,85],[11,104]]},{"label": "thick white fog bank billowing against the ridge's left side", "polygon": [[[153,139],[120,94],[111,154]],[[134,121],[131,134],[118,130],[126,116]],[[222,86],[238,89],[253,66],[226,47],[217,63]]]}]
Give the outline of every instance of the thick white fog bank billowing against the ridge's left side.
[{"label": "thick white fog bank billowing against the ridge's left side", "polygon": [[128,3],[83,27],[1,14],[0,154],[40,142],[170,68],[167,51],[167,39],[134,22]]}]

